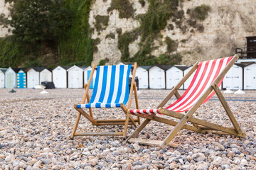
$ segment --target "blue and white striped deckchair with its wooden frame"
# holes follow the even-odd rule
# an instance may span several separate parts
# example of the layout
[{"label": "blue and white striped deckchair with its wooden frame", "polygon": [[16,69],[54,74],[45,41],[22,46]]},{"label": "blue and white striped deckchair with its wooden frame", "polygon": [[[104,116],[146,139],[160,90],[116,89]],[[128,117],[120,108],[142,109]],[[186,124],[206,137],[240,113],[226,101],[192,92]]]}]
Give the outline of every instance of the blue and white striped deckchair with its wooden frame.
[{"label": "blue and white striped deckchair with its wooden frame", "polygon": [[[132,85],[129,90],[129,73],[133,67]],[[95,78],[95,86],[92,91],[91,98],[88,95],[90,83],[92,81],[93,72],[96,66],[92,67],[92,72],[88,80],[88,84],[85,84],[85,94],[82,98],[82,103],[75,105],[75,109],[78,111],[78,116],[75,121],[75,126],[71,138],[75,136],[84,135],[123,135],[126,137],[127,126],[133,124],[136,126],[136,122],[139,123],[139,117],[133,119],[131,115],[127,114],[127,109],[131,107],[132,94],[134,91],[136,106],[138,108],[137,101],[137,89],[134,83],[135,72],[137,63],[134,65],[113,65],[113,66],[97,66],[97,74]],[[87,99],[87,103],[85,103]],[[128,104],[127,104],[128,103]],[[127,107],[125,105],[128,105]],[[85,112],[85,108],[89,109],[90,115]],[[117,120],[95,120],[92,115],[92,108],[122,108],[126,118]],[[85,118],[92,122],[92,125],[124,125],[123,132],[76,132],[80,116],[84,115]]]}]

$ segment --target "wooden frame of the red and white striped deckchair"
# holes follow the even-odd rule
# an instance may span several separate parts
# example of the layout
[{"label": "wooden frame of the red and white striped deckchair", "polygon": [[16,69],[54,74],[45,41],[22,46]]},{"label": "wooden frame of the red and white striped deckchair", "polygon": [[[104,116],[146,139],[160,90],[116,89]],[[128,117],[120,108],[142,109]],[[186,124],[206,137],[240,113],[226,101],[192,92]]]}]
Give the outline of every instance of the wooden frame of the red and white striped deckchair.
[{"label": "wooden frame of the red and white striped deckchair", "polygon": [[[194,106],[186,112],[186,114],[182,113],[177,113],[174,111],[170,111],[168,109],[162,108],[167,101],[172,96],[176,96],[176,98],[180,98],[181,96],[178,94],[178,89],[184,84],[184,82],[188,79],[188,77],[193,74],[193,72],[197,69],[198,67],[198,62],[193,65],[191,70],[188,72],[188,74],[181,79],[181,81],[178,82],[178,84],[174,87],[174,89],[171,90],[170,94],[164,98],[164,100],[157,106],[159,108],[159,113],[168,115],[170,117],[178,118],[180,119],[179,122],[175,122],[174,120],[169,120],[166,118],[161,118],[156,115],[144,115],[144,114],[138,114],[138,116],[142,118],[146,118],[142,125],[140,125],[133,133],[130,135],[127,139],[127,142],[139,142],[144,145],[160,145],[160,147],[164,148],[166,145],[171,142],[171,140],[174,139],[175,135],[177,135],[178,131],[181,130],[181,128],[185,128],[188,130],[193,130],[195,132],[201,132],[201,133],[206,133],[206,132],[212,132],[212,133],[217,133],[217,134],[225,134],[225,135],[236,135],[238,137],[245,137],[245,133],[243,133],[240,129],[240,126],[238,125],[238,122],[235,120],[235,117],[230,110],[230,107],[228,106],[228,103],[225,101],[225,98],[223,97],[223,94],[221,93],[218,83],[223,79],[225,74],[228,72],[228,70],[233,66],[233,64],[238,60],[238,55],[235,55],[232,60],[225,66],[222,72],[218,75],[218,77],[213,81],[213,83],[208,87],[208,89],[204,92],[203,96],[194,104]],[[228,118],[230,118],[231,123],[233,124],[234,128],[225,128],[222,125],[217,125],[214,123],[209,123],[206,120],[200,120],[198,118],[193,118],[193,113],[196,112],[199,106],[203,103],[203,101],[206,100],[206,98],[209,96],[209,94],[215,91],[216,95],[218,96],[220,103],[222,104],[223,108],[225,109],[225,112],[228,115]],[[128,111],[130,113],[130,109]],[[156,120],[161,123],[169,124],[175,126],[173,130],[169,133],[169,135],[165,138],[164,141],[158,141],[158,140],[142,140],[139,138],[134,138],[139,135],[139,132],[143,130],[143,128],[151,121],[151,120]],[[191,125],[185,125],[187,122],[191,122],[193,126]]]}]

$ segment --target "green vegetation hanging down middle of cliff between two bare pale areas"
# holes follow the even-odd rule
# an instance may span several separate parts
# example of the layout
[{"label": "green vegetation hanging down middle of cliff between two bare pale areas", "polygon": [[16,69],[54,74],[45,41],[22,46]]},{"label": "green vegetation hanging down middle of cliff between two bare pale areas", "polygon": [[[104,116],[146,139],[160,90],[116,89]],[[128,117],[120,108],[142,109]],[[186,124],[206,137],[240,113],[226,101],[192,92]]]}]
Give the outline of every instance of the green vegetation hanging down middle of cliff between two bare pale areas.
[{"label": "green vegetation hanging down middle of cliff between two bare pale areas", "polygon": [[[161,42],[160,31],[166,28],[167,21],[170,18],[182,18],[184,12],[178,11],[178,0],[149,0],[149,9],[147,13],[137,16],[141,23],[139,28],[119,35],[118,48],[122,52],[122,62],[138,62],[140,65],[148,64],[166,64],[172,58],[178,58],[174,64],[181,62],[181,55],[171,54],[177,48],[176,42],[171,38],[166,38],[167,53],[159,58],[151,55],[153,50],[158,47],[154,40]],[[129,55],[129,44],[141,37],[139,51],[134,55]],[[164,62],[166,61],[166,62]]]}]

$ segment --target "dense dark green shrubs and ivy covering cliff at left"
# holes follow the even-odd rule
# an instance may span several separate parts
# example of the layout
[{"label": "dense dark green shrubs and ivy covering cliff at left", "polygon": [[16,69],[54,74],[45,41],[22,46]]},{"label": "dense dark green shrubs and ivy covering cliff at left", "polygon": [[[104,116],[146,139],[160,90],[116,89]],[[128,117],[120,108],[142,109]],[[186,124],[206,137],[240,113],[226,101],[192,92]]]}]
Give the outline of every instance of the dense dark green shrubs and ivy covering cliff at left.
[{"label": "dense dark green shrubs and ivy covering cliff at left", "polygon": [[0,60],[4,61],[0,67],[90,65],[94,48],[88,23],[91,3],[14,0],[8,21],[13,35],[0,39]]}]

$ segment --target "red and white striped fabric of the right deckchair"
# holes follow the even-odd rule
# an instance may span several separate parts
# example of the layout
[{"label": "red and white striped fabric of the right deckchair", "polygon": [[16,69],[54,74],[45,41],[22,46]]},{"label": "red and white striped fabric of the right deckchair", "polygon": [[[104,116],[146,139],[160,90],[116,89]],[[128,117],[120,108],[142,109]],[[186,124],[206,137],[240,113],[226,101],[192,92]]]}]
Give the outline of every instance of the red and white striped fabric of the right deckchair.
[{"label": "red and white striped fabric of the right deckchair", "polygon": [[[181,113],[192,108],[232,58],[233,57],[226,57],[200,62],[188,89],[186,89],[181,98],[178,98],[176,102],[168,106],[166,109]],[[222,81],[223,79],[218,83],[218,86],[220,86]],[[206,98],[205,101],[203,101],[203,103],[206,103],[213,94],[215,94],[214,91]],[[130,113],[154,115],[155,113],[159,113],[159,111],[158,109],[134,109],[130,110]]]}]

